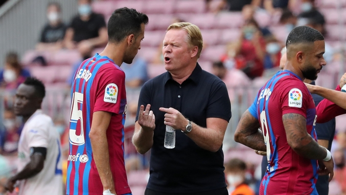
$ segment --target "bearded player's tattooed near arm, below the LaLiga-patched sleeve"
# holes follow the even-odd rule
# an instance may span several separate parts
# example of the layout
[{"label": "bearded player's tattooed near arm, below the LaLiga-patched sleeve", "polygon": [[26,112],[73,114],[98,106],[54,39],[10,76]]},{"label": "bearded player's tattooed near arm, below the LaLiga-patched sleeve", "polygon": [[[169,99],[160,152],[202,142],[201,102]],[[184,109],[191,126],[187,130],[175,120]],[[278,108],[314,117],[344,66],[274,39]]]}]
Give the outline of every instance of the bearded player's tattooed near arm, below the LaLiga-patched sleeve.
[{"label": "bearded player's tattooed near arm, below the LaLiga-patched sleeve", "polygon": [[307,133],[305,117],[289,113],[282,116],[282,122],[287,143],[294,151],[308,159],[320,160],[325,157],[325,149]]}]

